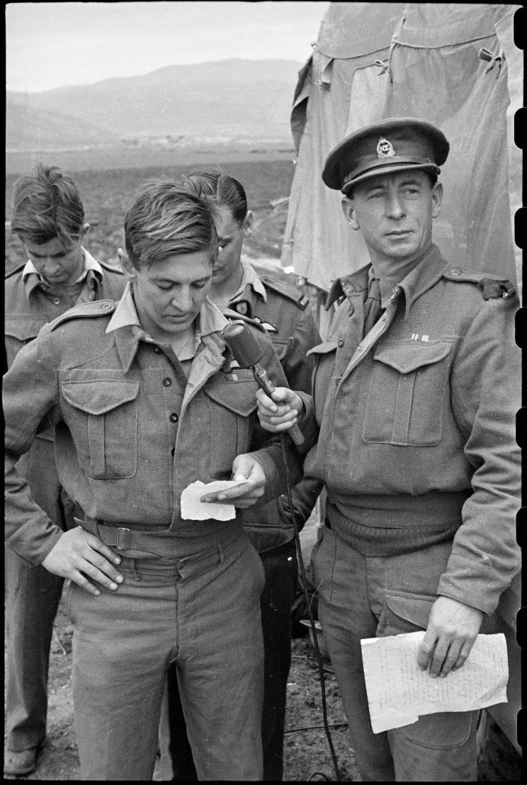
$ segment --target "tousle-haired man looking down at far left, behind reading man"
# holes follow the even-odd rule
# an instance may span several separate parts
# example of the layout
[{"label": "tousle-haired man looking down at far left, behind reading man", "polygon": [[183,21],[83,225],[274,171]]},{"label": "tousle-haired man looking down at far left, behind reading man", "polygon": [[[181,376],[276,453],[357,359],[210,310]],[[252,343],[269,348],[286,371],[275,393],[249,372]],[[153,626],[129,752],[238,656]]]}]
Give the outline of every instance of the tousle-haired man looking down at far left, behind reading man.
[{"label": "tousle-haired man looking down at far left, behind reading man", "polygon": [[[57,166],[39,164],[33,175],[16,181],[10,223],[28,260],[5,276],[7,367],[44,324],[72,305],[119,300],[126,283],[119,268],[96,261],[82,246],[90,225],[75,183]],[[53,427],[43,422],[17,470],[38,506],[65,531],[75,525],[75,506],[60,485],[54,446]],[[32,772],[46,739],[49,647],[63,582],[5,549],[8,776]]]}]

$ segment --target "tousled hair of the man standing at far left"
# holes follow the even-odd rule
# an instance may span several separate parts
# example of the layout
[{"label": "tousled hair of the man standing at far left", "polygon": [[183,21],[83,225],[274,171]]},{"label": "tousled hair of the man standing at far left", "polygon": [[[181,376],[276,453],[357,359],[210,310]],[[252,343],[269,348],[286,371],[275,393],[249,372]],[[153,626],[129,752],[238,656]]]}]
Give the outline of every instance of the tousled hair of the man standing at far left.
[{"label": "tousled hair of the man standing at far left", "polygon": [[14,186],[11,231],[37,245],[57,237],[65,246],[77,242],[84,225],[84,206],[77,186],[58,166],[38,163],[35,173]]}]

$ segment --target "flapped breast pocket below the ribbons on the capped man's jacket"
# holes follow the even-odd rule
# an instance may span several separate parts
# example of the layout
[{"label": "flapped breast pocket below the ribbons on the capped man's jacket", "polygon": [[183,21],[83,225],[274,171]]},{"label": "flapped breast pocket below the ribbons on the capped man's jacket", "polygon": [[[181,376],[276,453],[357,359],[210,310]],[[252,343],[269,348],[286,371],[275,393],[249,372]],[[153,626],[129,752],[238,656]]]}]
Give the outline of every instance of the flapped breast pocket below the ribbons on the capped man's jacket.
[{"label": "flapped breast pocket below the ribbons on the capped man's jacket", "polygon": [[439,444],[453,341],[383,344],[373,356],[362,437],[370,444]]}]

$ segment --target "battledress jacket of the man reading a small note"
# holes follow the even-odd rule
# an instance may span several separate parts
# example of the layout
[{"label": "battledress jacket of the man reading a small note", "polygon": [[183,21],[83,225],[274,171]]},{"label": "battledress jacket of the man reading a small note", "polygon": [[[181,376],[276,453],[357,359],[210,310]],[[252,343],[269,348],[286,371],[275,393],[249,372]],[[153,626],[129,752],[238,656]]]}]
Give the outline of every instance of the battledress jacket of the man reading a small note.
[{"label": "battledress jacket of the man reading a small note", "polygon": [[[141,339],[137,327],[107,334],[115,307],[104,300],[70,309],[42,327],[4,378],[6,543],[34,564],[62,532],[32,502],[14,466],[45,414],[55,425],[61,484],[87,517],[110,526],[126,523],[162,538],[225,527],[182,520],[181,491],[196,480],[229,479],[236,455],[251,447],[267,480],[262,502],[285,491],[280,444],[258,424],[258,388],[225,347],[219,333],[228,320],[220,310],[203,305],[209,329],[187,379],[174,353]],[[248,329],[270,378],[284,385],[271,341],[257,325]],[[291,458],[291,480],[301,476]]]}]

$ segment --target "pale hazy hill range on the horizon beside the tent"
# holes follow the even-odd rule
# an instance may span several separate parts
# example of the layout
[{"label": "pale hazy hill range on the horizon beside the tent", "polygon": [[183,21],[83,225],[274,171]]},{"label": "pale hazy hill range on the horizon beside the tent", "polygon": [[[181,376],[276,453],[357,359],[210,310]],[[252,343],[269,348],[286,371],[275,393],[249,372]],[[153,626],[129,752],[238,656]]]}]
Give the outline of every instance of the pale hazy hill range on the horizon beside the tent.
[{"label": "pale hazy hill range on the horizon beside the tent", "polygon": [[132,137],[291,137],[301,63],[221,60],[126,79],[7,93],[7,148],[108,144]]}]

